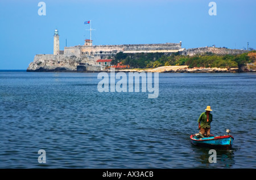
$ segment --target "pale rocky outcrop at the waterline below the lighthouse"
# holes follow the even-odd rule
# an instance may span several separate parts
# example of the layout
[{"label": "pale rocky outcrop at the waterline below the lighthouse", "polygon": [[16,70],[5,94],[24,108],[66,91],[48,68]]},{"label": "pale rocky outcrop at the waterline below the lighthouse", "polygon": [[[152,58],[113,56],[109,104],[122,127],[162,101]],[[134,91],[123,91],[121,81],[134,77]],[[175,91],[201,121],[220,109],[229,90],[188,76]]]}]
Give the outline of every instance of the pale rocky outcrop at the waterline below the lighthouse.
[{"label": "pale rocky outcrop at the waterline below the lighthouse", "polygon": [[36,55],[27,72],[76,72],[77,65],[94,64],[89,56]]}]

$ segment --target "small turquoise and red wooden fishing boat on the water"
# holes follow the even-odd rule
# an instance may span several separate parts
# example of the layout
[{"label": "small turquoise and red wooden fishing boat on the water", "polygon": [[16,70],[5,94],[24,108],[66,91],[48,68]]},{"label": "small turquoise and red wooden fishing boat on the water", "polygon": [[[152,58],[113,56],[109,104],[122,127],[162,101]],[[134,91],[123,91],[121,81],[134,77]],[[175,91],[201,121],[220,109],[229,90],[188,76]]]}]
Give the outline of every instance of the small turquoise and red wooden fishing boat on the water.
[{"label": "small turquoise and red wooden fishing boat on the water", "polygon": [[230,132],[229,129],[227,129],[226,132],[228,132],[228,135],[224,135],[224,136],[210,135],[209,137],[204,137],[200,133],[191,135],[190,136],[191,143],[194,145],[231,149],[234,137],[232,135],[229,135],[229,132]]}]

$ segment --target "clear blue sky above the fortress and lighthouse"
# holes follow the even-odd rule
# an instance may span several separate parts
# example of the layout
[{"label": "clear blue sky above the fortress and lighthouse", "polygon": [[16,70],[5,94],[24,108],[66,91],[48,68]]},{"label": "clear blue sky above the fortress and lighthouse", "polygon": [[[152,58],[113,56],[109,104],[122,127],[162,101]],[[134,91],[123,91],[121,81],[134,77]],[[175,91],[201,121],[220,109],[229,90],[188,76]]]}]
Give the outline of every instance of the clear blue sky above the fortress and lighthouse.
[{"label": "clear blue sky above the fortress and lighthouse", "polygon": [[[53,31],[60,49],[89,39],[94,45],[179,43],[183,48],[256,49],[255,0],[43,0],[0,1],[0,69],[27,69],[36,54],[53,53]],[[209,2],[217,15],[210,16]]]}]

